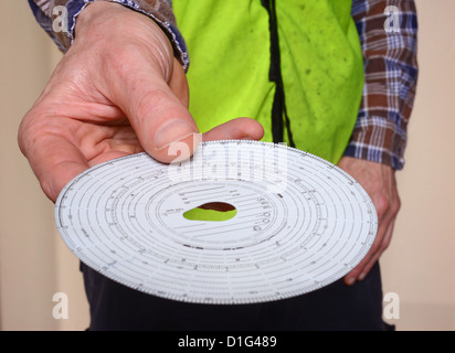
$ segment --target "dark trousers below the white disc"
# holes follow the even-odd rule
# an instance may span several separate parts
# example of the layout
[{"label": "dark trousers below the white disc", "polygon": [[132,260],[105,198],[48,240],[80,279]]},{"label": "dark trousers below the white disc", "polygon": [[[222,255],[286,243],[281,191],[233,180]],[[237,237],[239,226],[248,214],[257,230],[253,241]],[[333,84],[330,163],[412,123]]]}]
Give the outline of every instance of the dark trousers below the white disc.
[{"label": "dark trousers below the white disc", "polygon": [[177,302],[119,285],[81,265],[91,331],[385,331],[379,265],[348,287],[341,280],[296,298],[239,306]]}]

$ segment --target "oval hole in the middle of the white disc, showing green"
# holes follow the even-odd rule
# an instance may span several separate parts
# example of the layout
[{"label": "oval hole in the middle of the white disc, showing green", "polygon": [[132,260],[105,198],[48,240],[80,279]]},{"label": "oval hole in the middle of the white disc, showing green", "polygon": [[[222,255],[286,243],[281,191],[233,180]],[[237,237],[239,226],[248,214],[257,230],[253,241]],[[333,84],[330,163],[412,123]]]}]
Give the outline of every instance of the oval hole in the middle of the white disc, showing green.
[{"label": "oval hole in the middle of the white disc, showing green", "polygon": [[208,202],[183,213],[189,221],[224,222],[237,214],[235,206],[225,202]]}]

